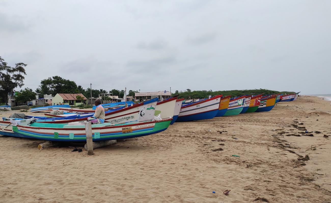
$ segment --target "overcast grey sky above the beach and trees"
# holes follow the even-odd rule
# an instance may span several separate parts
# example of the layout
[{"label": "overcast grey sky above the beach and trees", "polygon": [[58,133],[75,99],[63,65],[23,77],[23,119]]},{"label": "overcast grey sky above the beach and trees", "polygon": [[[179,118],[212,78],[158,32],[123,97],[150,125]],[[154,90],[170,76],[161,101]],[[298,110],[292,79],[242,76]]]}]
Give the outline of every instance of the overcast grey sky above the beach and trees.
[{"label": "overcast grey sky above the beach and trees", "polygon": [[331,93],[330,0],[0,1],[0,56],[35,90]]}]

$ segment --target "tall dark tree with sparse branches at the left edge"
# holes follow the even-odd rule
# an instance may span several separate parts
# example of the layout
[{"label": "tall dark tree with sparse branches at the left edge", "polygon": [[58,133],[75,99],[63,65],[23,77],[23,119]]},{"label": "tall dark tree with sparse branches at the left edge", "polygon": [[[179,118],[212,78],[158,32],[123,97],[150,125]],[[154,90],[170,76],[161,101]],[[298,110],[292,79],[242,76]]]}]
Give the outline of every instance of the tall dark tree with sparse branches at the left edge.
[{"label": "tall dark tree with sparse branches at the left edge", "polygon": [[8,104],[8,95],[14,93],[16,87],[22,87],[25,73],[24,63],[16,63],[15,67],[8,66],[0,56],[0,98]]}]

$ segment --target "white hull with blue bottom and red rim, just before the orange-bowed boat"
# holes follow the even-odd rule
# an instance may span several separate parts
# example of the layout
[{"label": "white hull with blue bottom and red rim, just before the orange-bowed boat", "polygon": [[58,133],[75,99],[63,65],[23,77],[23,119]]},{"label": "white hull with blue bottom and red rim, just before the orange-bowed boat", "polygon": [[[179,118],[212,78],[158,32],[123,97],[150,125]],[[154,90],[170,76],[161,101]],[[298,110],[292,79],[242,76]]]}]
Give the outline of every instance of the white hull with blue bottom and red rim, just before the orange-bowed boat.
[{"label": "white hull with blue bottom and red rim, just before the orange-bowed boat", "polygon": [[214,118],[218,112],[221,95],[181,107],[176,122]]}]

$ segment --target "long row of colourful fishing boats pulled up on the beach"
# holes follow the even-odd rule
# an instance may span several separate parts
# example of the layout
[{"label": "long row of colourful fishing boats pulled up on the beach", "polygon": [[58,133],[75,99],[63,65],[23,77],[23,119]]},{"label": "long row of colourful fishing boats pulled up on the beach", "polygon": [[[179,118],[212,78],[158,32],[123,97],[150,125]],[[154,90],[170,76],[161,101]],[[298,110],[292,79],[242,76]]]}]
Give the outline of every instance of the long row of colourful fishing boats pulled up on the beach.
[{"label": "long row of colourful fishing boats pulled up on the beach", "polygon": [[[92,124],[93,141],[155,134],[166,130],[174,122],[266,112],[279,101],[296,100],[298,94],[243,95],[234,98],[216,95],[190,103],[184,99],[171,97],[163,101],[154,98],[137,104],[133,102],[104,104],[105,122]],[[31,112],[55,110],[60,111],[61,114],[45,113],[44,117],[3,118],[0,121],[0,134],[48,141],[86,142],[85,121],[94,114],[94,109],[71,109],[69,105],[34,108]]]}]

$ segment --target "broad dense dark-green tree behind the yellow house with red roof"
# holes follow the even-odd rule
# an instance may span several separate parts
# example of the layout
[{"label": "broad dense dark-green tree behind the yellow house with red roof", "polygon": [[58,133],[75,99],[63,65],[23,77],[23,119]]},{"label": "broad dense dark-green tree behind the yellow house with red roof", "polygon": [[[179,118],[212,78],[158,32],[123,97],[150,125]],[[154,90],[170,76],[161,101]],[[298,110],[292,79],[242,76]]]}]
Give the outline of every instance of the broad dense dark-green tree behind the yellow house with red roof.
[{"label": "broad dense dark-green tree behind the yellow house with red roof", "polygon": [[52,95],[57,93],[79,93],[77,85],[74,81],[66,80],[60,76],[53,76],[41,81],[41,86],[46,85],[53,90]]}]

